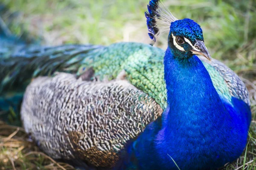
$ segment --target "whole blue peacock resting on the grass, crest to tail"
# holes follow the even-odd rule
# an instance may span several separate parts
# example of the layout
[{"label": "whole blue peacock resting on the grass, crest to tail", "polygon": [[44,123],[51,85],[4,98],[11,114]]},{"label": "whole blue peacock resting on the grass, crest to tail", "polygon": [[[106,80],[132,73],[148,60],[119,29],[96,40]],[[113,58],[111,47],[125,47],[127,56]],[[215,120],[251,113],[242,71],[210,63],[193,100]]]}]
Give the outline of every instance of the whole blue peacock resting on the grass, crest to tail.
[{"label": "whole blue peacock resting on the grass, crest to tail", "polygon": [[149,1],[145,17],[152,42],[168,28],[166,51],[6,42],[1,109],[23,96],[29,136],[85,169],[215,170],[234,161],[251,121],[244,83],[211,58],[198,23],[178,20],[160,0]]}]

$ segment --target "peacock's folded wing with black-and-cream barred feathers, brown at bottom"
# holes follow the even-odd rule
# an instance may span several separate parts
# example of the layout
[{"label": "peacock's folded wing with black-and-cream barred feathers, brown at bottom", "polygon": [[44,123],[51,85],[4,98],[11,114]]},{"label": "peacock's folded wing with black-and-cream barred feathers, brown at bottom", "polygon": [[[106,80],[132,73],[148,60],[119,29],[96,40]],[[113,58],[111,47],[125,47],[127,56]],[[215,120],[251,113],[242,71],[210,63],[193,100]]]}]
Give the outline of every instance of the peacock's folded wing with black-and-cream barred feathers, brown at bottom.
[{"label": "peacock's folded wing with black-and-cream barred feathers, brown at bottom", "polygon": [[23,126],[55,159],[111,167],[124,144],[163,112],[127,80],[82,81],[73,74],[38,77],[26,88]]}]

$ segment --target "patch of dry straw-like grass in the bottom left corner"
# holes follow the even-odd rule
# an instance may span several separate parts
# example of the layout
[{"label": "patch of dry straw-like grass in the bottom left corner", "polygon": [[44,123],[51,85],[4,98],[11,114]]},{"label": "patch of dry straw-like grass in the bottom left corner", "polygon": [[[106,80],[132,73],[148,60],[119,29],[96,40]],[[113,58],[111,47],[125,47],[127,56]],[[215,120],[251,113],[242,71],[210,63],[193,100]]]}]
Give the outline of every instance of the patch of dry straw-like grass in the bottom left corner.
[{"label": "patch of dry straw-like grass in the bottom left corner", "polygon": [[42,153],[22,127],[0,121],[0,170],[74,170]]}]

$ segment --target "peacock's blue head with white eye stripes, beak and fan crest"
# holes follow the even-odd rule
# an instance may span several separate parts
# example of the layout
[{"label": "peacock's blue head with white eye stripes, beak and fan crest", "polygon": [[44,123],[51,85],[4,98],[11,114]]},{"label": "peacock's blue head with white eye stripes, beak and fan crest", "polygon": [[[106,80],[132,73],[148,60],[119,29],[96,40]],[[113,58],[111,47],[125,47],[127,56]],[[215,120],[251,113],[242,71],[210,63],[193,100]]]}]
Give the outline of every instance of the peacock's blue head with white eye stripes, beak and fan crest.
[{"label": "peacock's blue head with white eye stripes, beak and fan crest", "polygon": [[160,0],[149,1],[145,17],[148,35],[154,42],[161,33],[169,30],[168,46],[175,57],[190,58],[196,54],[211,60],[204,45],[203,31],[195,21],[188,18],[178,20]]}]

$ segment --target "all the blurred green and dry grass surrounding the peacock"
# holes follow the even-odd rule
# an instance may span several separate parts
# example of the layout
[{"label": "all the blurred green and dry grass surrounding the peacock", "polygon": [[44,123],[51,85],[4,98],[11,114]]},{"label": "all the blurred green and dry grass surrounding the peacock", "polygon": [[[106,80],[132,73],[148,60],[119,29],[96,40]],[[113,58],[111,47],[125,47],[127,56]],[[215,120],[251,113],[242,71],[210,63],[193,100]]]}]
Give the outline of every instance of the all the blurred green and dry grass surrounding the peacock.
[{"label": "all the blurred green and dry grass surrounding the peacock", "polygon": [[[23,37],[37,37],[43,44],[151,42],[144,17],[148,0],[2,1],[11,11],[2,15],[10,31]],[[164,2],[177,18],[188,17],[200,24],[212,57],[232,68],[247,85],[252,110],[250,141],[242,156],[222,169],[256,169],[256,1]],[[15,19],[8,23],[6,19],[11,15]],[[166,37],[163,34],[156,46],[166,48]],[[17,131],[17,127],[0,122],[0,129],[1,169],[72,169],[41,153],[21,127]]]}]

